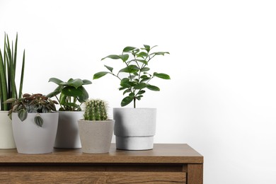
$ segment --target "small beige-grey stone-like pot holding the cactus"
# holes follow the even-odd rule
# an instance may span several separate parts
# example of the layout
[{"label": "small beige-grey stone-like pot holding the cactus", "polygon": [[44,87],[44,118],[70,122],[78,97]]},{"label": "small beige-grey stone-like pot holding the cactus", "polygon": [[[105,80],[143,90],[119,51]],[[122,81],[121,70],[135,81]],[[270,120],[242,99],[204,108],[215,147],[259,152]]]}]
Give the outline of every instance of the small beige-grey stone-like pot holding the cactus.
[{"label": "small beige-grey stone-like pot holding the cactus", "polygon": [[115,120],[79,120],[82,151],[88,154],[104,154],[110,149]]}]

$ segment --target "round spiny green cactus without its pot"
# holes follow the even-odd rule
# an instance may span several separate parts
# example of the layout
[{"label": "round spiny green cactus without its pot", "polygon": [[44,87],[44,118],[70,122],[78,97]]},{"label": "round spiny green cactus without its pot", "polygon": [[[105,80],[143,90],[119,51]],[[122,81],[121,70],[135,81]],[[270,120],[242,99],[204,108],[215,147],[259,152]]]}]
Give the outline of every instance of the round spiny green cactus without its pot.
[{"label": "round spiny green cactus without its pot", "polygon": [[108,105],[104,100],[86,100],[84,120],[102,121],[108,119]]}]

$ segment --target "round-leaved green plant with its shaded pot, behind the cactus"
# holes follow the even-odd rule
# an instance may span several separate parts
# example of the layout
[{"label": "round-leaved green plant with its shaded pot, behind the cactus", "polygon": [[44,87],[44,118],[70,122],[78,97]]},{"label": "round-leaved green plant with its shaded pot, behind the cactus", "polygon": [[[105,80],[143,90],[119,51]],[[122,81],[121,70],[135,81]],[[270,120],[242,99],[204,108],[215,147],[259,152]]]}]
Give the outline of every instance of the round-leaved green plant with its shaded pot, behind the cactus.
[{"label": "round-leaved green plant with its shaded pot, behind the cactus", "polygon": [[[79,149],[81,148],[81,140],[79,139],[77,120],[83,117],[84,111],[81,110],[81,104],[89,97],[84,85],[91,84],[91,81],[69,79],[65,82],[57,78],[51,78],[49,81],[54,82],[58,86],[47,97],[52,98],[55,96],[60,105],[59,125],[54,147]],[[59,98],[57,97],[58,95]]]}]

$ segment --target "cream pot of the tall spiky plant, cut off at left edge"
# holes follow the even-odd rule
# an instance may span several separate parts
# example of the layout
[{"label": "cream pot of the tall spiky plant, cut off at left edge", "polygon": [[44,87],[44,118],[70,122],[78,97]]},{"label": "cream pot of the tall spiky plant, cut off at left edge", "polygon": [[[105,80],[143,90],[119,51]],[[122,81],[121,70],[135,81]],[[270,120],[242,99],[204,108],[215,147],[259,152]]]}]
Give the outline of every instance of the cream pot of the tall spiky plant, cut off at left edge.
[{"label": "cream pot of the tall spiky plant, cut off at left edge", "polygon": [[0,111],[0,149],[16,149],[8,111]]}]

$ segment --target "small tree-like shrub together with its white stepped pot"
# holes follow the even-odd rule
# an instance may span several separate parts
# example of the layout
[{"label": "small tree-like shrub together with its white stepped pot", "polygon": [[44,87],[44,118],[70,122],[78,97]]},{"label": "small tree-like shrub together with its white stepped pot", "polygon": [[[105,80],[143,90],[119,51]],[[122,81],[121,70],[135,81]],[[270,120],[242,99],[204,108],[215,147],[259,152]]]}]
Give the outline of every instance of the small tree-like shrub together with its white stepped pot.
[{"label": "small tree-like shrub together with its white stepped pot", "polygon": [[131,102],[134,105],[134,108],[113,108],[117,149],[153,149],[156,130],[156,108],[136,108],[136,102],[141,100],[146,89],[160,91],[159,87],[151,85],[152,79],[156,77],[170,79],[168,74],[149,73],[151,59],[157,55],[169,54],[168,52],[151,52],[154,47],[149,45],[144,45],[140,49],[137,47],[125,47],[122,50],[122,54],[108,55],[103,59],[119,59],[126,67],[115,73],[113,67],[105,65],[108,71],[100,71],[93,76],[93,79],[99,79],[106,74],[115,76],[120,81],[119,90],[122,91],[123,95],[127,95],[122,99],[121,106],[124,107]]}]

